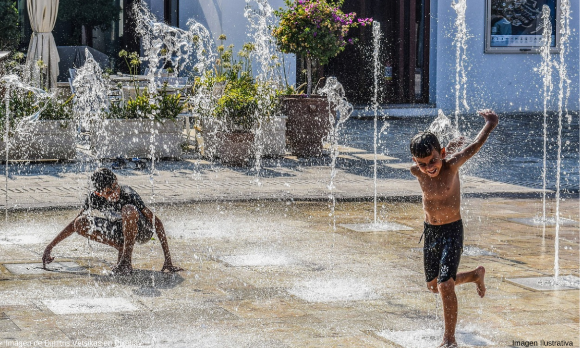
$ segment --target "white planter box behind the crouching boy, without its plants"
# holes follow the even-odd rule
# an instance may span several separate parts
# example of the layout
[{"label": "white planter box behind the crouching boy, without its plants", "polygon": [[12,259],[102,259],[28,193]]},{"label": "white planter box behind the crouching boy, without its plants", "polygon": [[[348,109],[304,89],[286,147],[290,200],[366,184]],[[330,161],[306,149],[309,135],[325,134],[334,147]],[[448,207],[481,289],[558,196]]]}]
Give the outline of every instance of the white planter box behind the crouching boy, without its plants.
[{"label": "white planter box behind the crouching boy, without its plants", "polygon": [[150,119],[103,119],[90,125],[90,149],[97,158],[179,158],[182,154],[183,119],[153,122]]}]

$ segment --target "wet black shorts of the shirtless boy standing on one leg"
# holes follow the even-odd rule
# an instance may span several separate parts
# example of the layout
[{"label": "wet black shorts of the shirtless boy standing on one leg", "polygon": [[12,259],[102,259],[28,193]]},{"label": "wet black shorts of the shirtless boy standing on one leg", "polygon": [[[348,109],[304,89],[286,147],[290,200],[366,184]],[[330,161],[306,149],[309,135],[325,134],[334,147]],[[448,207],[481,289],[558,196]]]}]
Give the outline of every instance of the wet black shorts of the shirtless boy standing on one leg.
[{"label": "wet black shorts of the shirtless boy standing on one leg", "polygon": [[423,264],[425,280],[430,282],[437,278],[438,283],[457,276],[459,260],[463,252],[463,222],[432,225],[424,223],[425,245],[423,246]]}]

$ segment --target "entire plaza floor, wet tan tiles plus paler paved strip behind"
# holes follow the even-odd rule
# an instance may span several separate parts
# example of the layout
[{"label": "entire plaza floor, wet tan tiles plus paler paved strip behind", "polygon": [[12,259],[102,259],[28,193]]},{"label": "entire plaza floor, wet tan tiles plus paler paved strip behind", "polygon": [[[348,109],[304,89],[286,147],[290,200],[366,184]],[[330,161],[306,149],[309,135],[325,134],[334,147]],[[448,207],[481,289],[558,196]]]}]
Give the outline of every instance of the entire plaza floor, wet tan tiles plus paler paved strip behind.
[{"label": "entire plaza floor, wet tan tiles plus paler paved strip behind", "polygon": [[[356,232],[343,226],[374,219],[372,158],[340,150],[332,191],[328,157],[264,159],[259,175],[195,158],[115,170],[160,216],[173,262],[186,269],[160,273],[152,240],[135,248],[136,270],[124,277],[110,274],[114,249],[78,235],[41,267],[103,164],[9,164],[0,189],[0,207],[9,208],[0,222],[0,347],[437,346],[441,300],[425,286],[421,193],[409,164],[379,157],[376,181],[378,221],[408,228]],[[533,223],[541,191],[465,175],[463,193],[460,271],[484,266],[487,294],[457,288],[460,346],[578,347],[578,289],[536,291],[512,280],[554,274],[554,227]],[[578,197],[564,198],[559,272],[578,277]],[[554,216],[553,199],[546,208]]]}]

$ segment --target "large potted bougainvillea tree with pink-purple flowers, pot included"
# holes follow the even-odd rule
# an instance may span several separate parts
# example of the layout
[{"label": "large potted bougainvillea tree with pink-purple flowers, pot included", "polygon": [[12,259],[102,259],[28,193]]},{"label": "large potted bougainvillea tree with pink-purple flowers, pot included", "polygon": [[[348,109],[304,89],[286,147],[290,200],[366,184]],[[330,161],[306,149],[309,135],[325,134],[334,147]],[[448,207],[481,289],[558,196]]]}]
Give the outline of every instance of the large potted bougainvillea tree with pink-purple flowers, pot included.
[{"label": "large potted bougainvillea tree with pink-purple flowers, pot included", "polygon": [[312,95],[312,65],[319,66],[345,50],[356,39],[348,38],[351,28],[367,26],[372,19],[356,19],[356,13],[343,13],[343,0],[285,0],[287,8],[275,13],[280,23],[272,34],[283,53],[306,59],[306,95],[280,98],[282,112],[288,116],[287,143],[292,153],[302,156],[322,154],[322,140],[331,125],[326,97]]}]

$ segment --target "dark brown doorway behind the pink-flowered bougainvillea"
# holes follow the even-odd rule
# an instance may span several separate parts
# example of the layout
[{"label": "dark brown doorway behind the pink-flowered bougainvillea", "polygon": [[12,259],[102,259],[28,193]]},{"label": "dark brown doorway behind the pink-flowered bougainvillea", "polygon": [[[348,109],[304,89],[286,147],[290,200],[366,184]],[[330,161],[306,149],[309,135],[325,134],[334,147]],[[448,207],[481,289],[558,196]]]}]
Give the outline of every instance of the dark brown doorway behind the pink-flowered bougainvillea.
[{"label": "dark brown doorway behind the pink-flowered bougainvillea", "polygon": [[[380,23],[380,104],[429,102],[430,0],[346,0],[344,12]],[[324,75],[336,76],[354,104],[371,104],[374,95],[372,27],[352,31],[355,45],[333,58]]]}]

